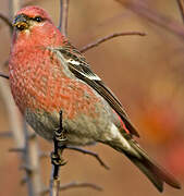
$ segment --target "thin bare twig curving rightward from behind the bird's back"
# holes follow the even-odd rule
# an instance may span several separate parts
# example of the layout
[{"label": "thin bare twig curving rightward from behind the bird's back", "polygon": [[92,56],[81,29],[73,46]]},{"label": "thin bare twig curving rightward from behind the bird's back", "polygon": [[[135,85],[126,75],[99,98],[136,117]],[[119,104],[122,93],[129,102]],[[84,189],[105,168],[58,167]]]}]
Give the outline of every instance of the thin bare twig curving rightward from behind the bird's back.
[{"label": "thin bare twig curving rightward from behind the bird's back", "polygon": [[138,36],[145,36],[146,34],[145,33],[140,33],[140,32],[124,32],[124,33],[115,33],[115,34],[111,34],[111,35],[108,35],[106,37],[102,37],[91,44],[88,44],[87,46],[83,47],[79,51],[81,52],[86,52],[87,50],[94,48],[94,47],[97,47],[98,45],[107,41],[107,40],[110,40],[112,38],[115,38],[115,37],[120,37],[120,36],[130,36],[130,35],[138,35]]}]

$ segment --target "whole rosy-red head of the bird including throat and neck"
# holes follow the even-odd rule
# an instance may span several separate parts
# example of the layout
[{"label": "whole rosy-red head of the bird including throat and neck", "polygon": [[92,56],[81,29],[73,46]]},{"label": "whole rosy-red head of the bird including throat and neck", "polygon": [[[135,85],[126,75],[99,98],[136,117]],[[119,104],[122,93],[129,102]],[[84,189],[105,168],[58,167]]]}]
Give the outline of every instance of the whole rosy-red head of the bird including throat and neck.
[{"label": "whole rosy-red head of the bird including throat and neck", "polygon": [[[25,7],[14,16],[12,46],[57,46],[64,40],[49,14],[39,7]],[[20,45],[22,45],[20,47]]]}]

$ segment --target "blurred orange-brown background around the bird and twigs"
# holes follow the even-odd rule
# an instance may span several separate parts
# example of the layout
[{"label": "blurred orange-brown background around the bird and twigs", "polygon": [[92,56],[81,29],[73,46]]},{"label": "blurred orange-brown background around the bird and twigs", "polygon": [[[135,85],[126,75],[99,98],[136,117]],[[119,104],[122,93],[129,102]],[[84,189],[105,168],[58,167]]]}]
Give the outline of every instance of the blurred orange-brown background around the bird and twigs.
[{"label": "blurred orange-brown background around the bird and twigs", "polygon": [[[121,2],[121,3],[119,3]],[[119,0],[70,0],[69,38],[77,48],[120,32],[144,32],[147,35],[124,36],[109,40],[85,52],[93,70],[106,82],[123,103],[126,112],[140,134],[138,142],[152,158],[168,169],[184,184],[184,36],[163,28],[154,21],[137,14],[128,4]],[[137,1],[138,2],[138,1]],[[147,9],[167,16],[183,26],[176,0],[146,0]],[[40,5],[59,24],[59,0],[22,1]],[[136,2],[135,2],[136,3]],[[0,0],[0,12],[9,14],[9,1]],[[142,10],[142,9],[137,9]],[[151,12],[146,12],[151,15]],[[160,17],[159,17],[160,19]],[[171,20],[171,21],[170,21]],[[170,23],[171,22],[171,23]],[[179,27],[174,26],[175,29]],[[8,26],[0,21],[0,66],[10,52]],[[0,83],[3,78],[0,78]],[[0,133],[10,131],[9,117],[0,95]],[[16,154],[13,138],[0,138],[0,189],[1,195],[27,195],[26,185],[21,185],[24,171]],[[52,149],[42,138],[39,147]],[[124,156],[97,145],[87,147],[100,155],[110,167],[107,171],[93,158],[65,150],[68,164],[61,168],[61,183],[71,181],[91,182],[103,187],[103,192],[90,188],[72,188],[63,196],[157,196],[160,195]],[[41,160],[41,177],[49,185],[50,159]],[[182,196],[184,191],[165,185],[163,196]]]}]

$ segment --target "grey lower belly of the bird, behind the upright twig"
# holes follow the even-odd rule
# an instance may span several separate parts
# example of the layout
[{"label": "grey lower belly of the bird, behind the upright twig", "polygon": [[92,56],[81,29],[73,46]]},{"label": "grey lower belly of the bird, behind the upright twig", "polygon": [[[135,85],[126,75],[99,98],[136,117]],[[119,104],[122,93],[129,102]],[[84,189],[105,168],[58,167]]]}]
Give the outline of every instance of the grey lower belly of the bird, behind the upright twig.
[{"label": "grey lower belly of the bird, behind the upright twig", "polygon": [[[33,112],[27,110],[25,113],[26,121],[37,134],[47,140],[53,138],[56,128],[59,128],[59,113],[53,112]],[[63,118],[63,128],[66,131],[68,144],[70,145],[90,145],[100,142],[105,133],[110,130],[110,113],[103,111],[98,118],[88,118],[79,114],[74,120]]]}]

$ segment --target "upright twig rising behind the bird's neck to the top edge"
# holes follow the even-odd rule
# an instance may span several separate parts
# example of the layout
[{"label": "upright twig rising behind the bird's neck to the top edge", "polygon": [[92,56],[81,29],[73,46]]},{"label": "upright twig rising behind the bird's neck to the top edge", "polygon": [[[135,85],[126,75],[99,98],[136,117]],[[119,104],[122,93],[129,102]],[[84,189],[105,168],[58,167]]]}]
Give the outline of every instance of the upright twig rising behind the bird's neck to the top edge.
[{"label": "upright twig rising behind the bird's neck to the top edge", "polygon": [[60,0],[60,24],[59,29],[64,36],[68,35],[69,0]]}]

